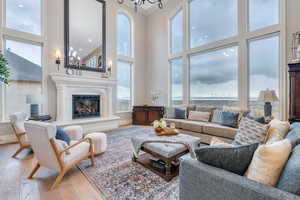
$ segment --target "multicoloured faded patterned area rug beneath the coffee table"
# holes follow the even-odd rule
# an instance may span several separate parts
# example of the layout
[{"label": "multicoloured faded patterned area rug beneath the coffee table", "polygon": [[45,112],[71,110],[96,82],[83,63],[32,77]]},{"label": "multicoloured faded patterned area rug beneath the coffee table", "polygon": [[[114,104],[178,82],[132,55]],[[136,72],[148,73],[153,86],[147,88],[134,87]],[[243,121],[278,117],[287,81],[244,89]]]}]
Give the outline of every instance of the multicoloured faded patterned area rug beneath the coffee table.
[{"label": "multicoloured faded patterned area rug beneath the coffee table", "polygon": [[89,160],[78,167],[105,200],[177,200],[178,177],[166,182],[160,176],[131,161],[130,138],[148,135],[152,130],[129,127],[107,132],[108,149],[96,157],[96,165]]}]

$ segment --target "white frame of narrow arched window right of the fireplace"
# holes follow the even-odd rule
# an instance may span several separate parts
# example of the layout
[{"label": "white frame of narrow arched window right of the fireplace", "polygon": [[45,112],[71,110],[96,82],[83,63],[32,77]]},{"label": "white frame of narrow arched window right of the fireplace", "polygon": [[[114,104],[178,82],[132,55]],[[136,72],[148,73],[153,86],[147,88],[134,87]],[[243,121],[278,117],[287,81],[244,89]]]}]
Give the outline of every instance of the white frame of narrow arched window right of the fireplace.
[{"label": "white frame of narrow arched window right of the fireplace", "polygon": [[[120,9],[117,11],[116,13],[116,34],[121,33],[120,31],[118,31],[118,15],[125,15],[128,20],[129,20],[129,24],[130,24],[130,55],[131,56],[123,56],[123,55],[118,55],[118,51],[116,51],[117,54],[117,62],[116,65],[118,64],[118,62],[125,62],[125,63],[129,63],[131,66],[131,88],[130,88],[130,97],[131,97],[131,101],[130,101],[130,108],[128,111],[119,111],[117,104],[116,104],[116,113],[128,113],[128,112],[132,112],[132,106],[134,104],[134,66],[135,66],[135,56],[134,56],[134,20],[131,16],[130,13],[128,13],[126,10]],[[116,38],[118,38],[118,35],[116,35]],[[116,50],[118,49],[118,40],[116,40]],[[116,67],[116,72],[118,72],[118,66]],[[117,80],[118,82],[118,80]],[[118,98],[118,90],[116,90],[116,97]],[[118,101],[118,99],[117,99]]]}]

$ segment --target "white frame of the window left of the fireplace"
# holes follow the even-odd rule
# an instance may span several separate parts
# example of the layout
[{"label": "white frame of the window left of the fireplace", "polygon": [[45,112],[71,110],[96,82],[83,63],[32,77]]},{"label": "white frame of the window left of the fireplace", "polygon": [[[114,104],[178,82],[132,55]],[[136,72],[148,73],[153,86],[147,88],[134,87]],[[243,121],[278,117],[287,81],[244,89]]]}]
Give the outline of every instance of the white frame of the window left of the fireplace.
[{"label": "white frame of the window left of the fireplace", "polygon": [[[41,35],[35,35],[31,33],[26,33],[19,30],[14,30],[6,27],[6,1],[9,0],[0,0],[0,16],[1,27],[0,27],[0,48],[2,52],[5,50],[5,40],[15,40],[20,41],[27,44],[38,44],[42,48],[42,95],[45,97],[45,102],[42,105],[42,112],[48,112],[48,102],[47,102],[47,63],[45,59],[45,55],[47,55],[47,9],[46,9],[46,1],[41,0]],[[8,122],[6,116],[6,90],[7,86],[4,84],[0,84],[0,123]]]}]

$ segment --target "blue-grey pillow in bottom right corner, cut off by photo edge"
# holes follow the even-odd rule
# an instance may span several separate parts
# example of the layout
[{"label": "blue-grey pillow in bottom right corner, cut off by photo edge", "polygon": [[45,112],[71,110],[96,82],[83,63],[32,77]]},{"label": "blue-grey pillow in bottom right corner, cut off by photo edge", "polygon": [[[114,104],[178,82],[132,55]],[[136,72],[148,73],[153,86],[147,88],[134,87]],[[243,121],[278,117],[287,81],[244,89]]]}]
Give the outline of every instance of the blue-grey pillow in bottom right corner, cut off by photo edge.
[{"label": "blue-grey pillow in bottom right corner, cut off by photo edge", "polygon": [[277,188],[300,195],[300,145],[293,149],[279,178]]}]

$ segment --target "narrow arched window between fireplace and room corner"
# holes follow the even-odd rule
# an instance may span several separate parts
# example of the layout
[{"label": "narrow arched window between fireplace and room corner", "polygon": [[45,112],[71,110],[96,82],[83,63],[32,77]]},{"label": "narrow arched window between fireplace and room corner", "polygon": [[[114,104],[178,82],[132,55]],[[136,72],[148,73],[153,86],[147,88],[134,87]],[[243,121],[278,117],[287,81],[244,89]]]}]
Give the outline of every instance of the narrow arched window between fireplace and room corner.
[{"label": "narrow arched window between fireplace and room corner", "polygon": [[132,107],[132,22],[124,13],[117,15],[117,111],[127,112]]}]

